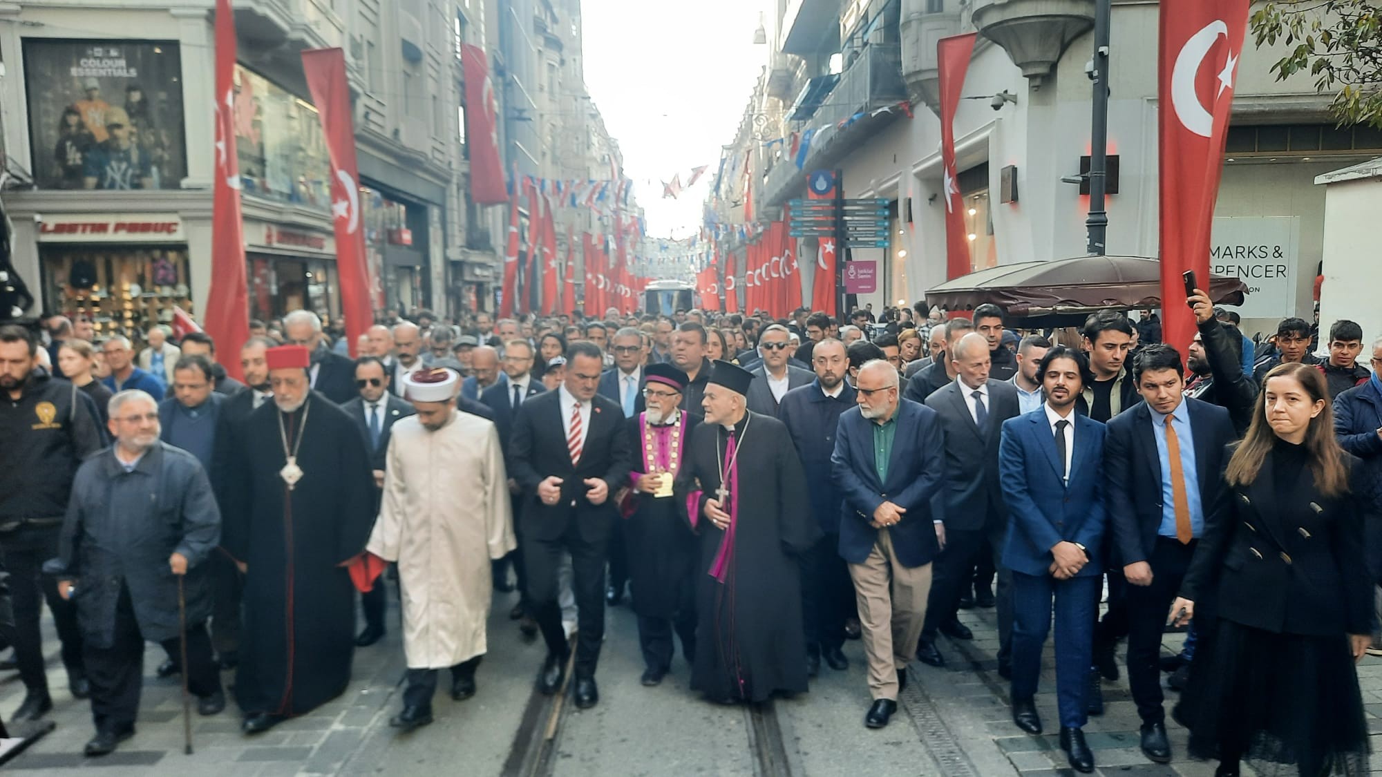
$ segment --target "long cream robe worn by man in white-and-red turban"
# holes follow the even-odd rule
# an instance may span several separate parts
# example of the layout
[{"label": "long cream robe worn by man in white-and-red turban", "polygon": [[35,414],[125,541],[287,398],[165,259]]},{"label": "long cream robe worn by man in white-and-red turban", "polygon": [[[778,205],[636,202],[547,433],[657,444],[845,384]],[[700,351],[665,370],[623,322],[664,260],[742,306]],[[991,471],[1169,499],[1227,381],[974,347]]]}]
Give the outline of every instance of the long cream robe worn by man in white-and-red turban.
[{"label": "long cream robe worn by man in white-and-red turban", "polygon": [[398,563],[409,669],[484,655],[489,561],[515,546],[493,422],[459,411],[437,431],[416,416],[395,422],[368,550]]}]

